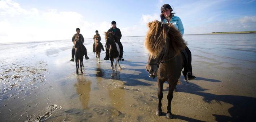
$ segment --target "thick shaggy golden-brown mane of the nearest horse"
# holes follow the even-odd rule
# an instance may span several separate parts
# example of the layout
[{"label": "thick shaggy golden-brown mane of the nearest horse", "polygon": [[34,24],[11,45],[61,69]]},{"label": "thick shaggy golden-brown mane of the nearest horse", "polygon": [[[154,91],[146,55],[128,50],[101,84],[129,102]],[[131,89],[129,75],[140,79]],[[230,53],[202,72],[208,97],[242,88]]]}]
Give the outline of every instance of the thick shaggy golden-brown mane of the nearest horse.
[{"label": "thick shaggy golden-brown mane of the nearest horse", "polygon": [[145,37],[145,48],[153,59],[166,51],[166,41],[169,40],[169,47],[173,48],[175,54],[178,55],[182,49],[186,47],[186,42],[182,38],[181,33],[170,23],[163,24],[155,20],[147,24],[149,30]]}]

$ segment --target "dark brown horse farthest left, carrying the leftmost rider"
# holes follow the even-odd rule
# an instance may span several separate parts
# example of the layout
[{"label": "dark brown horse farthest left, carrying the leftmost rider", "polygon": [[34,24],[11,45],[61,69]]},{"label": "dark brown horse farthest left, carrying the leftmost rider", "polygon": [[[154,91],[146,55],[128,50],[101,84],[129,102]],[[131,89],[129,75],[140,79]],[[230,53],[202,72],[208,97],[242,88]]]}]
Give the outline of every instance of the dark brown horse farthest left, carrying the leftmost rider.
[{"label": "dark brown horse farthest left, carrying the leftmost rider", "polygon": [[81,36],[76,35],[74,39],[74,43],[75,43],[76,74],[78,74],[79,60],[80,60],[80,67],[81,67],[80,70],[81,70],[81,73],[83,74],[82,66],[84,67],[84,62],[83,62],[84,51],[82,49],[83,42],[81,41]]}]

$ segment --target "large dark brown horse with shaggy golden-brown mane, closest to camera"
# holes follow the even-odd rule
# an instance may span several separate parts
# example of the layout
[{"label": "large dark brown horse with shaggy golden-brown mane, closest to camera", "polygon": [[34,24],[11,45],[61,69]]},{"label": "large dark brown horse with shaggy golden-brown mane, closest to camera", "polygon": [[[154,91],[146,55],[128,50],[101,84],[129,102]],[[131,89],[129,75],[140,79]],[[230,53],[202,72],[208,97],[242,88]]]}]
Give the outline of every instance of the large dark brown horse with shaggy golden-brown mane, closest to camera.
[{"label": "large dark brown horse with shaggy golden-brown mane, closest to camera", "polygon": [[166,117],[171,119],[173,90],[183,67],[183,57],[180,51],[186,47],[186,42],[171,23],[163,24],[155,20],[148,23],[147,26],[149,31],[145,38],[145,48],[149,52],[149,58],[146,70],[150,73],[150,77],[157,78],[159,101],[156,115],[161,116],[162,114],[163,85],[167,81],[169,93]]}]

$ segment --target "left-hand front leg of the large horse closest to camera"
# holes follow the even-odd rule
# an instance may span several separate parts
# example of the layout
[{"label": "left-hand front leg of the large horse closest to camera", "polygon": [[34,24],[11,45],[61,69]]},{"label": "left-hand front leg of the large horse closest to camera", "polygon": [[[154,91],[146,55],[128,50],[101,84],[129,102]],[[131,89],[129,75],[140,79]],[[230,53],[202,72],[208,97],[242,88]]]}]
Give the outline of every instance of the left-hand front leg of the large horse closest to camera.
[{"label": "left-hand front leg of the large horse closest to camera", "polygon": [[156,115],[158,115],[158,116],[161,116],[161,114],[162,114],[162,99],[163,99],[163,86],[164,86],[164,82],[163,82],[163,80],[162,79],[160,79],[160,78],[158,78],[157,79],[157,83],[158,83],[158,94],[157,94],[157,96],[158,96],[158,108],[157,108],[157,110],[156,110]]}]

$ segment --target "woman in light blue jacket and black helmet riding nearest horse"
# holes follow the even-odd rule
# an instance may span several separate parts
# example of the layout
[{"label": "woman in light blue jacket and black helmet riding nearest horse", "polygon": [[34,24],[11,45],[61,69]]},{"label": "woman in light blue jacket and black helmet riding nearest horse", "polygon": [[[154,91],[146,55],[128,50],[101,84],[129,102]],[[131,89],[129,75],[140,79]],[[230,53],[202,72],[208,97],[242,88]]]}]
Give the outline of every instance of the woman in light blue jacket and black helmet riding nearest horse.
[{"label": "woman in light blue jacket and black helmet riding nearest horse", "polygon": [[[181,22],[181,19],[177,16],[174,16],[175,13],[172,13],[173,9],[169,4],[164,4],[163,6],[161,6],[161,21],[163,23],[172,23],[174,25],[174,27],[176,27],[176,29],[181,33],[181,35],[183,36],[184,34],[184,27],[183,24]],[[187,62],[187,68],[184,67],[184,76],[187,80],[194,80],[195,76],[192,74],[192,65],[191,65],[191,52],[189,50],[189,48],[185,48],[185,51],[187,52],[187,56],[188,56],[188,62]],[[188,71],[187,71],[188,70]]]}]

